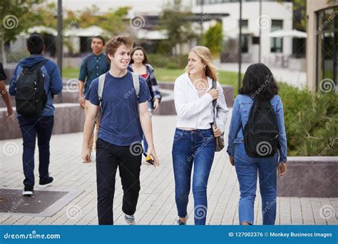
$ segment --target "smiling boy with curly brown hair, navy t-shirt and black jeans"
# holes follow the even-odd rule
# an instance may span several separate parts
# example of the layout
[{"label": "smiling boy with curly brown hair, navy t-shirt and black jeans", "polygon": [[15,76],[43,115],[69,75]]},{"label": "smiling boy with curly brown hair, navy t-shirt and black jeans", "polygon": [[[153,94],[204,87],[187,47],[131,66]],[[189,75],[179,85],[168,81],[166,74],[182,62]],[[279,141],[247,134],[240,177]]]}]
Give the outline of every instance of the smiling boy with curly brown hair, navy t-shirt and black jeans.
[{"label": "smiling boy with curly brown hair, navy t-shirt and black jeans", "polygon": [[[116,36],[106,44],[106,55],[111,69],[106,73],[101,101],[101,122],[96,142],[96,181],[98,190],[98,224],[113,225],[113,197],[117,168],[123,188],[122,210],[128,224],[135,224],[134,213],[140,192],[140,165],[143,133],[149,143],[148,155],[154,166],[158,157],[153,144],[153,132],[148,113],[149,88],[139,76],[137,96],[133,76],[127,71],[133,41]],[[86,96],[88,113],[83,128],[82,158],[91,161],[88,146],[94,120],[99,110],[98,78],[92,81]]]}]

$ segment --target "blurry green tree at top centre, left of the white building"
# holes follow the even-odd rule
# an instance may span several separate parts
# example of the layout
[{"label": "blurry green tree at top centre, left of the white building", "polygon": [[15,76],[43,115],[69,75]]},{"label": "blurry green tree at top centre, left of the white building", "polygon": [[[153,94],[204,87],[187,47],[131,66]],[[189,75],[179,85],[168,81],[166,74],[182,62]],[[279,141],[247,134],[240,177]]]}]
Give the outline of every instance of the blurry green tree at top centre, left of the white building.
[{"label": "blurry green tree at top centre, left of the white building", "polygon": [[188,9],[183,9],[180,0],[168,3],[163,8],[160,14],[160,29],[167,31],[168,39],[163,40],[163,45],[165,49],[169,50],[170,54],[176,56],[178,51],[174,47],[179,46],[180,50],[182,50],[182,44],[193,38],[193,31],[190,31],[191,22],[187,21],[191,15]]}]

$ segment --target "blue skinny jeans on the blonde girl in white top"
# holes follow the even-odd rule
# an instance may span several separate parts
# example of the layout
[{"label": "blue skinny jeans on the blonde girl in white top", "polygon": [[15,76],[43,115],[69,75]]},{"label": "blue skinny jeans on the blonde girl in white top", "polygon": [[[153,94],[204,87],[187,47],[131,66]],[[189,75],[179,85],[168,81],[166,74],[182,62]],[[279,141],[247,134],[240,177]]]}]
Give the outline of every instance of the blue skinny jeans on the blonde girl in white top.
[{"label": "blue skinny jeans on the blonde girl in white top", "polygon": [[183,131],[176,128],[173,142],[175,201],[178,216],[187,216],[190,178],[193,172],[195,225],[205,225],[207,217],[207,185],[215,155],[212,130]]}]

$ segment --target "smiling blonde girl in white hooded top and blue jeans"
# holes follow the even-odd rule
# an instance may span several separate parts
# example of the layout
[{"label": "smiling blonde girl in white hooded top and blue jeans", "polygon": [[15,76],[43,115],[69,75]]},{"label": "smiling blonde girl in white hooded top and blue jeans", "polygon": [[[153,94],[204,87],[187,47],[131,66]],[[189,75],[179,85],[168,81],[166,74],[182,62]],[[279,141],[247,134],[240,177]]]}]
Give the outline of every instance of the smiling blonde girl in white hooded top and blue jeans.
[{"label": "smiling blonde girl in white hooded top and blue jeans", "polygon": [[[175,81],[175,109],[178,114],[173,141],[173,168],[178,224],[188,220],[190,176],[193,170],[195,225],[205,225],[208,210],[207,185],[215,154],[214,137],[224,133],[227,104],[222,86],[217,81],[212,55],[205,46],[195,46],[188,56],[187,73]],[[217,128],[212,126],[212,101],[217,99]]]}]

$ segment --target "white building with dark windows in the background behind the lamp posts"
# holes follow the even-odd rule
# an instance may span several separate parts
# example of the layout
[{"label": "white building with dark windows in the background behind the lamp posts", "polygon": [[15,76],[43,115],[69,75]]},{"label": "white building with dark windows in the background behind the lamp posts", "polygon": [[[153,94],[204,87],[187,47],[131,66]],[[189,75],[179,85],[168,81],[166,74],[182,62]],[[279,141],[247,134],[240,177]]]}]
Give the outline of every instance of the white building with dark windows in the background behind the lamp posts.
[{"label": "white building with dark windows in the background behind the lamp posts", "polygon": [[[239,0],[195,0],[193,12],[230,14],[222,19],[225,36],[225,60],[237,61],[240,3]],[[292,30],[293,4],[291,1],[242,0],[242,61],[259,60],[259,36],[262,33],[261,61],[272,63],[279,58],[292,56],[292,38],[270,38],[267,34],[277,30]],[[224,57],[223,57],[224,58]]]}]

